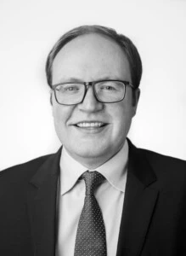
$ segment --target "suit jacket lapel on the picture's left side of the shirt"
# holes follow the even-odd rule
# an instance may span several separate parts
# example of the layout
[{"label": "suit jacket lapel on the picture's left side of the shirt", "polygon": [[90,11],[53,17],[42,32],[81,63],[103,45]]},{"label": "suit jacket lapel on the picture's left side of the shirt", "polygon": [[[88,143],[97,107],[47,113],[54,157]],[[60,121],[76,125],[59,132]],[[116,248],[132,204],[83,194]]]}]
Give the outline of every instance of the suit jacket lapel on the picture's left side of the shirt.
[{"label": "suit jacket lapel on the picture's left side of the shirt", "polygon": [[35,256],[54,256],[60,152],[61,148],[57,154],[48,157],[28,187],[27,203]]}]

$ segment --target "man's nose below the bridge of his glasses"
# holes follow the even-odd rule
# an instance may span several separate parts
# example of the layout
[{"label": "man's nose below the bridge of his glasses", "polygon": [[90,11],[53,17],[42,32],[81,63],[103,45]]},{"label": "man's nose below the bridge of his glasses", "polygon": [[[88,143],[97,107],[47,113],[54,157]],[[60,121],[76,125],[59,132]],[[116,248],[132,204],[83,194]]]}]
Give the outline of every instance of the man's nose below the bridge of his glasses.
[{"label": "man's nose below the bridge of his glasses", "polygon": [[93,86],[87,87],[86,96],[82,103],[78,104],[78,108],[84,112],[97,112],[104,108],[102,102],[98,102],[93,94]]}]

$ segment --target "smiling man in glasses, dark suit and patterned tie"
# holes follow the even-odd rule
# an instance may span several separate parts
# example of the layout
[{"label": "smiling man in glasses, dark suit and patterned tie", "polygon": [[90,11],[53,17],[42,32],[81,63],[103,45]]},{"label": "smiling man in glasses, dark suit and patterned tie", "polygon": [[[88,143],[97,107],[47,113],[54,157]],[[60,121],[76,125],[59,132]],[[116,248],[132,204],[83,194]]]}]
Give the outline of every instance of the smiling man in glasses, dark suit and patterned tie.
[{"label": "smiling man in glasses, dark suit and patterned tie", "polygon": [[185,255],[186,163],[127,139],[142,64],[123,35],[81,26],[46,66],[63,147],[0,174],[1,255]]}]

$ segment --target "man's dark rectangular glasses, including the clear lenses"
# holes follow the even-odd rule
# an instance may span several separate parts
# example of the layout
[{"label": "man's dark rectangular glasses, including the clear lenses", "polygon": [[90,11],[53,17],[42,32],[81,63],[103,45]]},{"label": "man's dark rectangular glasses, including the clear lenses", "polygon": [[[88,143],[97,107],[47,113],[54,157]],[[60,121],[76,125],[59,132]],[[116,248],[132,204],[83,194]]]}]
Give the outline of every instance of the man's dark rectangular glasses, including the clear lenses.
[{"label": "man's dark rectangular glasses, including the clear lenses", "polygon": [[134,86],[128,81],[101,80],[95,82],[66,82],[54,84],[54,96],[56,102],[61,105],[76,105],[82,103],[89,86],[93,87],[93,95],[98,102],[115,103],[121,102],[126,94],[126,86]]}]

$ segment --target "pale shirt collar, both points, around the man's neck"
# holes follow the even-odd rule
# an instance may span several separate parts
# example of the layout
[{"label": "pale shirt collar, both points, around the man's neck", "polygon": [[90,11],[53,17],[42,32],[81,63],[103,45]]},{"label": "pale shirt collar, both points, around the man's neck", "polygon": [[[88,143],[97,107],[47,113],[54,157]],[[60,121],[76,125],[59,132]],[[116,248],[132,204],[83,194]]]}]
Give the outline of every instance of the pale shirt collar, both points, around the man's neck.
[{"label": "pale shirt collar, both points, around the man's neck", "polygon": [[[115,156],[106,161],[102,166],[89,171],[101,173],[115,189],[124,192],[127,179],[127,159],[128,143],[126,140],[121,150]],[[59,166],[60,194],[64,195],[74,187],[82,173],[87,171],[87,167],[74,160],[67,153],[65,147],[62,148]]]}]

